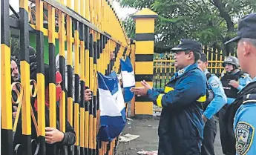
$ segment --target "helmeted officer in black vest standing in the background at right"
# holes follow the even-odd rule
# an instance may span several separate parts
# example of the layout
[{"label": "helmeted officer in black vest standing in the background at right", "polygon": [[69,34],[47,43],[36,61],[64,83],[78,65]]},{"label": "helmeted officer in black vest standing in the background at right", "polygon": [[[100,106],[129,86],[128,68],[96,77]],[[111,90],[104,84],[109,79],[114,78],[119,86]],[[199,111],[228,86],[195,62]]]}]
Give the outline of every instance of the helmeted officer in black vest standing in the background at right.
[{"label": "helmeted officer in black vest standing in the background at right", "polygon": [[231,145],[231,142],[229,142],[229,139],[226,136],[226,123],[224,122],[226,108],[228,108],[228,106],[234,102],[238,91],[243,89],[249,82],[252,81],[252,79],[248,74],[243,73],[238,69],[238,59],[234,56],[227,56],[223,62],[223,67],[225,67],[226,73],[221,78],[221,82],[227,96],[227,104],[223,106],[219,112],[220,142],[223,154],[232,154],[232,150],[234,149],[233,145]]}]

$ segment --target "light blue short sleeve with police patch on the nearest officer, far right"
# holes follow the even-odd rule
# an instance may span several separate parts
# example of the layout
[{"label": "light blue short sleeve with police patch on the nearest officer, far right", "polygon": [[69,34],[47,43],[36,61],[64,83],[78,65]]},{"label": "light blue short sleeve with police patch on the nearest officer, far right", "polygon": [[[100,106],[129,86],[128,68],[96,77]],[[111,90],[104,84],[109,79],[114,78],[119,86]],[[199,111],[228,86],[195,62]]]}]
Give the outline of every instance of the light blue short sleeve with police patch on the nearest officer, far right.
[{"label": "light blue short sleeve with police patch on the nearest officer, far right", "polygon": [[[255,79],[252,80],[256,82]],[[256,94],[247,95],[234,116],[234,135],[238,154],[256,154]]]}]

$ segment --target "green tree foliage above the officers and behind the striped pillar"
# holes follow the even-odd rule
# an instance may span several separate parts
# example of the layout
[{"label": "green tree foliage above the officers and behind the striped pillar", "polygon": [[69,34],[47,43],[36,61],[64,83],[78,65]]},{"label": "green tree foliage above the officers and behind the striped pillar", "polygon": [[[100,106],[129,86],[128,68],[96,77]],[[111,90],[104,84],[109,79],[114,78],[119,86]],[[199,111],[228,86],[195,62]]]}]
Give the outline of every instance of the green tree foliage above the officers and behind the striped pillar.
[{"label": "green tree foliage above the officers and behind the striped pillar", "polygon": [[[237,31],[240,17],[256,10],[255,0],[118,0],[124,7],[147,7],[158,13],[156,45],[172,47],[180,39],[197,39],[226,53],[234,46],[223,43]],[[125,19],[128,35],[134,36],[134,22]],[[233,44],[234,45],[234,44]]]}]

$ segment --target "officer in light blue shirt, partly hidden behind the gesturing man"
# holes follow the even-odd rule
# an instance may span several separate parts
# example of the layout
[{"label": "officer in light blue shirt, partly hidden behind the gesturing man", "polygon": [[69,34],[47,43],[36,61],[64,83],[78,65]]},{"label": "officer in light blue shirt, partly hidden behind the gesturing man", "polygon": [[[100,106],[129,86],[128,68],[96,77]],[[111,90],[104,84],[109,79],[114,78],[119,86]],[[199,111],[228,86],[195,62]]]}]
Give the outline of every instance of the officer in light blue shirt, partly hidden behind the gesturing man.
[{"label": "officer in light blue shirt, partly hidden behind the gesturing man", "polygon": [[208,61],[205,53],[197,61],[198,67],[203,70],[209,83],[209,95],[206,103],[203,104],[202,118],[206,125],[203,129],[203,144],[201,147],[202,155],[214,155],[214,141],[217,133],[217,122],[214,119],[216,114],[223,105],[226,104],[226,95],[220,79],[207,70]]}]

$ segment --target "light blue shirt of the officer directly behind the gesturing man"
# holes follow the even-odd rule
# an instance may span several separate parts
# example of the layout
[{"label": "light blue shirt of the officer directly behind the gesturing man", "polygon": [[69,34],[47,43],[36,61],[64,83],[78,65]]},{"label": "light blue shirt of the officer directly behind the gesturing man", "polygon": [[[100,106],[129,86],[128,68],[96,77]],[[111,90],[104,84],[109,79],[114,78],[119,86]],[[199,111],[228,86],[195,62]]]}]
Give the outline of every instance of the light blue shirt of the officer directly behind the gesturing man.
[{"label": "light blue shirt of the officer directly behind the gesturing man", "polygon": [[[209,73],[209,71],[205,70],[204,73],[207,74]],[[206,108],[206,111],[203,112],[203,115],[206,116],[207,119],[211,119],[211,117],[214,116],[214,114],[216,114],[218,111],[220,111],[223,105],[226,104],[227,99],[220,79],[217,76],[211,74],[208,82],[209,90],[212,90],[212,92],[214,93],[214,99],[211,100]]]}]

